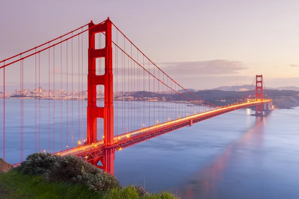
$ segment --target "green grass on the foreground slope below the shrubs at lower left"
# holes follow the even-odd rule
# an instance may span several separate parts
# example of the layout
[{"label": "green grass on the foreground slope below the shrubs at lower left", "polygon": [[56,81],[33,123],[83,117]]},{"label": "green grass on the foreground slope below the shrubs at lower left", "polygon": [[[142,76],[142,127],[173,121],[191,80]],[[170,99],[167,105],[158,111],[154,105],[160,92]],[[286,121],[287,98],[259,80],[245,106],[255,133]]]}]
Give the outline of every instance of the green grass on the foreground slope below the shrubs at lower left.
[{"label": "green grass on the foreground slope below the shrubs at lower left", "polygon": [[95,193],[84,185],[66,182],[49,183],[40,176],[21,175],[12,170],[0,173],[0,199],[177,199],[169,193],[138,195],[128,186]]}]

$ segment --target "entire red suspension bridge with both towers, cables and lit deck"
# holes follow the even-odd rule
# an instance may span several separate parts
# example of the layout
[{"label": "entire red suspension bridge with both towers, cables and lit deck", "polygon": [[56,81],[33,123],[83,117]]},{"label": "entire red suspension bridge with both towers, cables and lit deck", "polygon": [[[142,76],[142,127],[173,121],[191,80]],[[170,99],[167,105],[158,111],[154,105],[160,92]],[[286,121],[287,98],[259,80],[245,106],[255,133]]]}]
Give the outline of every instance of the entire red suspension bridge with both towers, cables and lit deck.
[{"label": "entire red suspension bridge with both towers, cables and lit deck", "polygon": [[[119,150],[234,110],[255,106],[254,115],[264,116],[272,107],[263,98],[262,75],[255,77],[254,93],[234,103],[203,100],[154,64],[109,17],[0,64],[4,160],[8,139],[18,162],[24,152],[71,154],[113,175]],[[11,120],[14,128],[7,125]]]}]

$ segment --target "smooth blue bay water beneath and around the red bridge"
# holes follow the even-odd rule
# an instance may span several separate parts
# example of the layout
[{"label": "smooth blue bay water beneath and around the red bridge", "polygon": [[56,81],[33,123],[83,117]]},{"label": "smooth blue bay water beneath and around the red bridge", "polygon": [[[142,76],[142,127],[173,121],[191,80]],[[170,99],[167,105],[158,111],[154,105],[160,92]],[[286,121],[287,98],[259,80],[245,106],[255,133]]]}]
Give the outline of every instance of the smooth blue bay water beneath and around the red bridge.
[{"label": "smooth blue bay water beneath and around the red bridge", "polygon": [[[20,159],[19,118],[8,110],[17,112],[19,101],[6,101],[5,154],[8,162],[15,163]],[[78,108],[74,112],[77,118]],[[115,176],[123,185],[143,185],[150,192],[171,191],[182,199],[299,199],[299,109],[273,111],[264,118],[250,114],[249,109],[237,110],[119,151]],[[2,118],[1,115],[0,157]],[[62,118],[64,131],[65,111]],[[46,131],[48,119],[41,122]],[[85,129],[86,121],[83,122]],[[29,134],[24,133],[25,155],[34,152],[35,118],[24,119],[24,124],[24,131]],[[78,130],[81,126],[77,122],[73,128]],[[42,147],[48,147],[47,138],[47,134],[42,134]],[[60,148],[57,145],[56,150]],[[66,142],[61,143],[64,145]],[[53,146],[50,148],[53,150]]]}]

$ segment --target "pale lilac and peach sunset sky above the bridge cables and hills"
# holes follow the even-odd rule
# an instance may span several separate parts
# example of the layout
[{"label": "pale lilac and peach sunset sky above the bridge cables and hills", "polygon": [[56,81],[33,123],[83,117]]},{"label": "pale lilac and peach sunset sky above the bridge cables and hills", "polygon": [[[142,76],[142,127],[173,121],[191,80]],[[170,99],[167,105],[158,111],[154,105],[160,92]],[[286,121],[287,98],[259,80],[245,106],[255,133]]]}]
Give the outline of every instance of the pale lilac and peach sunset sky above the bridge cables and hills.
[{"label": "pale lilac and peach sunset sky above the bridge cables and hills", "polygon": [[110,16],[185,88],[251,84],[256,74],[268,87],[299,86],[298,0],[0,0],[0,8],[0,60]]}]

